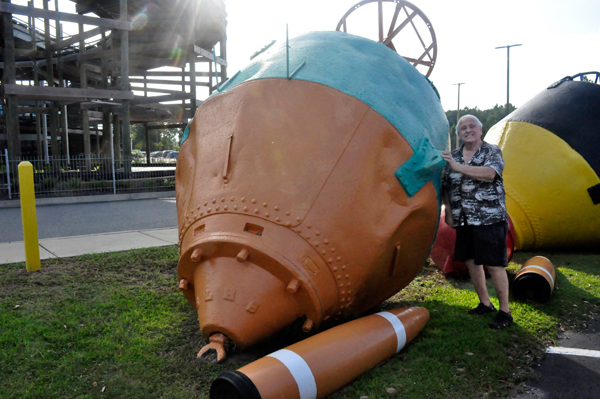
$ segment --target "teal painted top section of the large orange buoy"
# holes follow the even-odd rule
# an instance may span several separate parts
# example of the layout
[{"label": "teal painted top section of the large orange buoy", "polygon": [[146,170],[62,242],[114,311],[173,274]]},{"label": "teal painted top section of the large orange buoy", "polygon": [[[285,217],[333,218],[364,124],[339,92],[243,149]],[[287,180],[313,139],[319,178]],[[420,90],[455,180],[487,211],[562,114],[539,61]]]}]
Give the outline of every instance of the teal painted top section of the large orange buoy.
[{"label": "teal painted top section of the large orange buoy", "polygon": [[[289,73],[305,63],[293,79],[320,83],[357,98],[408,141],[418,158],[411,164],[410,178],[402,177],[408,173],[401,168],[396,177],[410,196],[431,179],[439,193],[443,166],[439,152],[447,146],[448,120],[427,78],[387,46],[343,32],[306,33],[291,39],[289,46]],[[220,93],[250,80],[273,78],[288,78],[285,43],[252,60],[221,85]]]}]

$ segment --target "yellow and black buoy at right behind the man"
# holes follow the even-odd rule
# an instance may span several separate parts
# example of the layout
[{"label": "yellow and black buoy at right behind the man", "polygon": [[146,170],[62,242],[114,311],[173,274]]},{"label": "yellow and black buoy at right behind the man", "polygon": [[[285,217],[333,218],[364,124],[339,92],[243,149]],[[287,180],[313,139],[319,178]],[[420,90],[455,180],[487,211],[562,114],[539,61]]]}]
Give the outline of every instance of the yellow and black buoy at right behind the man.
[{"label": "yellow and black buoy at right behind the man", "polygon": [[600,244],[599,75],[554,83],[485,137],[500,146],[506,163],[516,250]]}]

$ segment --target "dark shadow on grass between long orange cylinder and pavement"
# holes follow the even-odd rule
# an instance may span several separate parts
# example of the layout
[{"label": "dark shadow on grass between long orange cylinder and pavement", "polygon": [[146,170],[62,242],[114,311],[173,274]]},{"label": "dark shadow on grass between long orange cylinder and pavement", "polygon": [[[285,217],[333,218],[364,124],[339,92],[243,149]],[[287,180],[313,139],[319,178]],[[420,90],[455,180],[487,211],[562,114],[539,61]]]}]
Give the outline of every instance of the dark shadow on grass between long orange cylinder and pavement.
[{"label": "dark shadow on grass between long orange cylinder and pavement", "polygon": [[398,355],[332,398],[387,398],[388,387],[410,398],[507,397],[512,386],[532,376],[527,361],[539,352],[540,339],[518,324],[492,330],[493,315],[467,315],[469,307],[456,302],[401,295],[384,302],[375,310],[423,306],[431,318]]}]

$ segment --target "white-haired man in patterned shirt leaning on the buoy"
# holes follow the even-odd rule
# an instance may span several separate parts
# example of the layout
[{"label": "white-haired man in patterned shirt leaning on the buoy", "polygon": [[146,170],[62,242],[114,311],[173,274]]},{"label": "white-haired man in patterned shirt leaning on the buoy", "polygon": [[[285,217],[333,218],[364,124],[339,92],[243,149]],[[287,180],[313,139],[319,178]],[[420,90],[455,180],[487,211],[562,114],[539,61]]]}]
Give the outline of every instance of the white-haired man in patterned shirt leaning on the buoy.
[{"label": "white-haired man in patterned shirt leaning on the buoy", "polygon": [[483,126],[473,115],[464,115],[456,125],[462,145],[442,152],[448,163],[442,183],[446,223],[456,229],[454,260],[465,262],[479,296],[479,305],[471,315],[493,313],[483,265],[492,276],[500,310],[490,328],[503,329],[513,323],[508,307],[508,231],[502,151],[481,140]]}]

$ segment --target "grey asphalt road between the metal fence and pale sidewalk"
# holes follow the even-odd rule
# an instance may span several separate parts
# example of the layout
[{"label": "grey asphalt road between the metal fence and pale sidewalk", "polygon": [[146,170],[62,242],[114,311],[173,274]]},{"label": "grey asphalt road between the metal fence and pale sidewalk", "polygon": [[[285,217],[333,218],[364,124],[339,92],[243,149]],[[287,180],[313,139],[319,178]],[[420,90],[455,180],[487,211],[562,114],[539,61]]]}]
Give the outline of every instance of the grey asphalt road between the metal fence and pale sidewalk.
[{"label": "grey asphalt road between the metal fence and pale sidewalk", "polygon": [[[174,198],[37,207],[38,236],[71,237],[177,227]],[[23,241],[20,208],[0,209],[0,242]]]}]

